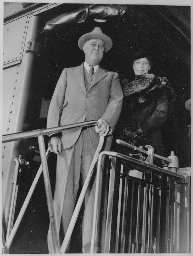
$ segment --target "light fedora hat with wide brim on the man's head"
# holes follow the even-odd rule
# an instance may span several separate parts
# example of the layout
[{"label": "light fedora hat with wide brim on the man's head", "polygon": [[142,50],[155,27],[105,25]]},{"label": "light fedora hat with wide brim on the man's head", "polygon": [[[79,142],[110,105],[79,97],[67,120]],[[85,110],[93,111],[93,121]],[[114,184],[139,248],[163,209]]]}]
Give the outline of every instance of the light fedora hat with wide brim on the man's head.
[{"label": "light fedora hat with wide brim on the man's head", "polygon": [[84,46],[85,42],[87,40],[93,39],[93,38],[100,39],[103,42],[105,42],[105,44],[106,44],[105,52],[108,52],[112,48],[112,45],[113,45],[112,40],[110,39],[110,37],[103,34],[101,28],[99,28],[99,27],[93,28],[93,30],[91,32],[86,33],[79,38],[79,40],[78,40],[79,48],[83,51],[83,46]]}]

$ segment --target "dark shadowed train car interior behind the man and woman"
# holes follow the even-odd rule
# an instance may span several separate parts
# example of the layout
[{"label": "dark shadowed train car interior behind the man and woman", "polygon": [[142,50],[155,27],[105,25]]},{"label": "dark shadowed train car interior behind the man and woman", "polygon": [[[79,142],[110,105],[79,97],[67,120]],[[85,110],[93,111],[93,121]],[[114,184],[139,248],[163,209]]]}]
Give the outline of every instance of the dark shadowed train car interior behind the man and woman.
[{"label": "dark shadowed train car interior behind the man and woman", "polygon": [[[36,67],[34,83],[37,82],[38,89],[33,105],[33,114],[31,113],[29,120],[29,130],[46,128],[48,104],[63,68],[75,67],[84,61],[84,53],[78,48],[79,37],[90,32],[93,27],[99,26],[103,33],[110,36],[113,41],[113,48],[104,55],[101,66],[118,72],[121,79],[132,73],[130,56],[136,49],[145,48],[152,53],[152,73],[167,77],[176,93],[173,115],[162,131],[165,156],[168,156],[173,150],[179,158],[180,167],[190,166],[190,143],[184,139],[186,127],[190,124],[190,111],[184,107],[186,100],[190,98],[190,42],[180,32],[180,30],[185,31],[188,35],[181,17],[177,18],[173,15],[173,23],[179,28],[176,29],[164,18],[164,16],[171,15],[174,7],[130,5],[129,10],[122,17],[108,17],[105,22],[99,23],[90,17],[82,23],[71,22],[49,32],[43,30],[48,20],[82,6],[64,4],[41,16],[40,47],[34,63]],[[179,13],[182,9],[188,20],[190,8],[175,6],[175,10]],[[38,143],[37,141],[32,142],[34,148],[31,150],[33,152],[31,151],[32,153],[26,156],[30,166],[25,167],[19,174],[19,179],[25,180],[25,182],[21,182],[22,186],[19,187],[15,218],[25,199],[26,191],[32,183],[33,176],[40,166]],[[47,148],[46,136],[45,143]],[[50,154],[48,166],[54,193],[56,155]],[[13,240],[10,253],[48,253],[49,216],[44,190],[41,176],[22,220],[22,225]],[[78,222],[77,225],[81,224]],[[79,237],[80,234],[77,235],[77,231],[75,231],[73,238],[73,252],[75,253],[81,252]],[[79,245],[77,245],[78,243]]]}]

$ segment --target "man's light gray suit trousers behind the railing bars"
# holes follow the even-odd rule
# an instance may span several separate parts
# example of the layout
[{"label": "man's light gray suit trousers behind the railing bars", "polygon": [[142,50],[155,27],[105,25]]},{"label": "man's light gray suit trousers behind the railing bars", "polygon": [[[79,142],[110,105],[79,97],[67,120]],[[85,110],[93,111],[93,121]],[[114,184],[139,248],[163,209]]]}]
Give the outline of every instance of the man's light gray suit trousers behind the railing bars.
[{"label": "man's light gray suit trousers behind the railing bars", "polygon": [[[61,244],[74,211],[79,187],[80,172],[82,174],[82,183],[84,184],[96,150],[92,145],[87,129],[89,128],[82,129],[75,145],[71,148],[62,150],[60,155],[57,156],[54,209],[56,215],[56,226]],[[91,179],[84,202],[82,223],[83,253],[90,252],[95,195],[95,181],[93,180]],[[48,249],[49,253],[54,253],[51,227],[49,227],[48,231]]]}]

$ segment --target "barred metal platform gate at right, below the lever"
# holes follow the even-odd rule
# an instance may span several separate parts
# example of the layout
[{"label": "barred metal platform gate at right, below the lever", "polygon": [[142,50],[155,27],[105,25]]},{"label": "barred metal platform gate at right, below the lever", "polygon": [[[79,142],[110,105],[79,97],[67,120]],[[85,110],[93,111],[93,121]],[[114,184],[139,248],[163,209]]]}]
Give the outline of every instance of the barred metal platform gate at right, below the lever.
[{"label": "barred metal platform gate at right, below the lever", "polygon": [[[106,226],[98,227],[101,162],[105,156],[109,157],[111,166],[107,217]],[[101,152],[96,174],[91,253],[97,243],[97,228],[105,229],[102,253],[176,252],[176,181],[183,183],[184,176],[117,152]]]}]

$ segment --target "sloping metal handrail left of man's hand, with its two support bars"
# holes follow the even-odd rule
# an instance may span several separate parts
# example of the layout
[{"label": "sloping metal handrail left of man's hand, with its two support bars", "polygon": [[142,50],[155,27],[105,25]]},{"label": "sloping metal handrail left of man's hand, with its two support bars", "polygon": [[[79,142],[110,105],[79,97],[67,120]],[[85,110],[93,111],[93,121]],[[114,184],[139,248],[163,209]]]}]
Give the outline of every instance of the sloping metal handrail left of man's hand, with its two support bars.
[{"label": "sloping metal handrail left of man's hand, with its two support bars", "polygon": [[97,121],[92,120],[92,121],[81,122],[81,123],[77,123],[77,124],[63,125],[60,127],[54,127],[54,128],[48,128],[48,129],[38,129],[38,130],[33,130],[33,131],[28,131],[28,132],[18,132],[18,133],[3,135],[3,140],[2,140],[3,143],[9,142],[9,141],[14,141],[14,140],[23,140],[23,139],[38,137],[38,144],[39,144],[40,156],[41,156],[41,162],[42,162],[42,164],[38,170],[38,173],[37,173],[38,175],[36,174],[36,177],[34,179],[35,181],[33,181],[33,184],[26,196],[26,199],[24,201],[25,204],[23,204],[23,206],[19,212],[18,218],[15,221],[15,224],[11,230],[11,233],[7,237],[7,241],[5,243],[5,248],[4,248],[4,251],[6,253],[9,251],[9,248],[10,248],[13,238],[17,232],[17,229],[19,227],[21,219],[26,211],[29,200],[31,199],[33,190],[35,188],[34,186],[37,183],[42,171],[43,171],[46,198],[47,198],[47,204],[48,204],[49,219],[52,224],[51,230],[52,230],[54,251],[56,253],[60,253],[57,229],[56,229],[56,220],[55,220],[55,214],[54,214],[54,205],[53,205],[51,185],[50,185],[49,173],[48,173],[47,156],[49,155],[49,150],[47,150],[47,152],[46,152],[43,135],[55,133],[55,132],[61,132],[63,130],[67,130],[67,129],[71,129],[71,128],[85,127],[85,126],[91,126],[91,125],[96,125],[96,124],[97,124]]}]

